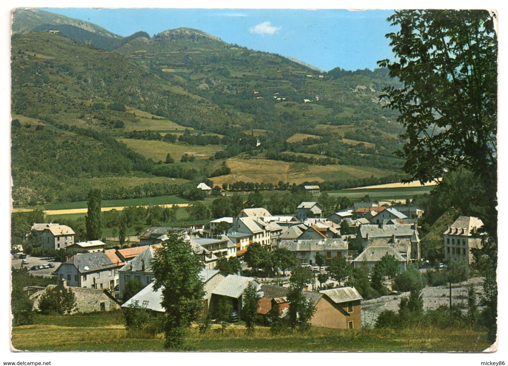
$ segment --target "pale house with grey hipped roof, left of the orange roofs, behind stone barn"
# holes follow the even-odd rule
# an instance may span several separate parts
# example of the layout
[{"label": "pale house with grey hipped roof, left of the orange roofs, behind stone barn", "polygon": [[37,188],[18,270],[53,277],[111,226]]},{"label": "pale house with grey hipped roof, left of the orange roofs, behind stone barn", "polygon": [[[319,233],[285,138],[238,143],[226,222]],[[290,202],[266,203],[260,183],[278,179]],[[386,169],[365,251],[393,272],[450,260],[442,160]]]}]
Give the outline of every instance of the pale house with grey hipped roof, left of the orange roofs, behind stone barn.
[{"label": "pale house with grey hipped roof, left of the orange roofs, behind stone barn", "polygon": [[58,280],[69,286],[113,291],[118,283],[117,263],[104,252],[76,254],[56,270]]}]

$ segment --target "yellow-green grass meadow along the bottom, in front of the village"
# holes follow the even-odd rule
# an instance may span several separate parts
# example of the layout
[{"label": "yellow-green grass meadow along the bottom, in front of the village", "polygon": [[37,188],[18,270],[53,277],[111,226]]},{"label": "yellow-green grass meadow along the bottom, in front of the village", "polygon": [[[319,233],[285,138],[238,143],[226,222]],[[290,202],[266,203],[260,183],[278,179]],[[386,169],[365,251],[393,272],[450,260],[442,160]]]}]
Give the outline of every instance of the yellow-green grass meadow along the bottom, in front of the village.
[{"label": "yellow-green grass meadow along the bottom, in front of the village", "polygon": [[[58,325],[56,325],[58,324]],[[127,331],[120,312],[73,316],[36,316],[34,325],[12,329],[12,346],[27,351],[163,351],[162,335]],[[272,336],[268,327],[247,335],[244,326],[231,325],[224,334],[218,325],[205,334],[193,327],[184,348],[189,351],[259,352],[481,352],[488,348],[485,333],[471,329],[311,328]]]}]

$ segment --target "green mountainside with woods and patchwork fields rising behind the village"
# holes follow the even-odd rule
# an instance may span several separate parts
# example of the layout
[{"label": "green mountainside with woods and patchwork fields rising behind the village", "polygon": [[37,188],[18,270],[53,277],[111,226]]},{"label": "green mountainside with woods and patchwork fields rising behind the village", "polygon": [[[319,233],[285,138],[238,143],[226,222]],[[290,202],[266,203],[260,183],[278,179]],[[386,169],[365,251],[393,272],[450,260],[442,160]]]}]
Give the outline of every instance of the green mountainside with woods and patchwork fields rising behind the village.
[{"label": "green mountainside with woods and patchwork fields rising behind the village", "polygon": [[[378,99],[394,83],[384,69],[317,72],[196,29],[120,37],[46,13],[18,11],[13,25],[15,204],[81,200],[98,177],[336,188],[403,165],[402,128]],[[179,188],[109,194],[148,191]]]}]

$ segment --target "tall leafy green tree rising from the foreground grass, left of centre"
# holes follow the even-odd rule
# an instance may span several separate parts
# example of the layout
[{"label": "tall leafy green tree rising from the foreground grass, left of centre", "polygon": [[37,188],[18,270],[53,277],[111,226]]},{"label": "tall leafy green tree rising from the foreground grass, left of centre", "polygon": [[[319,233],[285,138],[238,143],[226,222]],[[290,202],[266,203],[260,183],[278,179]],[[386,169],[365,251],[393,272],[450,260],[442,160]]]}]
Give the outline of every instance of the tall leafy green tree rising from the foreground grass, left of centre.
[{"label": "tall leafy green tree rising from the foreground grass, left of centre", "polygon": [[200,272],[203,265],[180,232],[168,233],[152,261],[154,289],[162,289],[166,309],[165,348],[179,349],[190,323],[202,311],[204,295]]}]

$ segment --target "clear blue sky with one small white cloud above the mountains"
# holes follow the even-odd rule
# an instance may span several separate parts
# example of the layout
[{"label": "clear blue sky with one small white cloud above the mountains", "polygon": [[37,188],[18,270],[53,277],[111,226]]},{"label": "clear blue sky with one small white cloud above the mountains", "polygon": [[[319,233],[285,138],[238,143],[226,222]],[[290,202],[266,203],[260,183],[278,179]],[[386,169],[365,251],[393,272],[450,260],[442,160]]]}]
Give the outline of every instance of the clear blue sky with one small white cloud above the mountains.
[{"label": "clear blue sky with one small white cloud above the mountains", "polygon": [[251,49],[295,57],[325,71],[374,69],[391,57],[390,10],[44,9],[100,25],[120,36],[190,27]]}]

